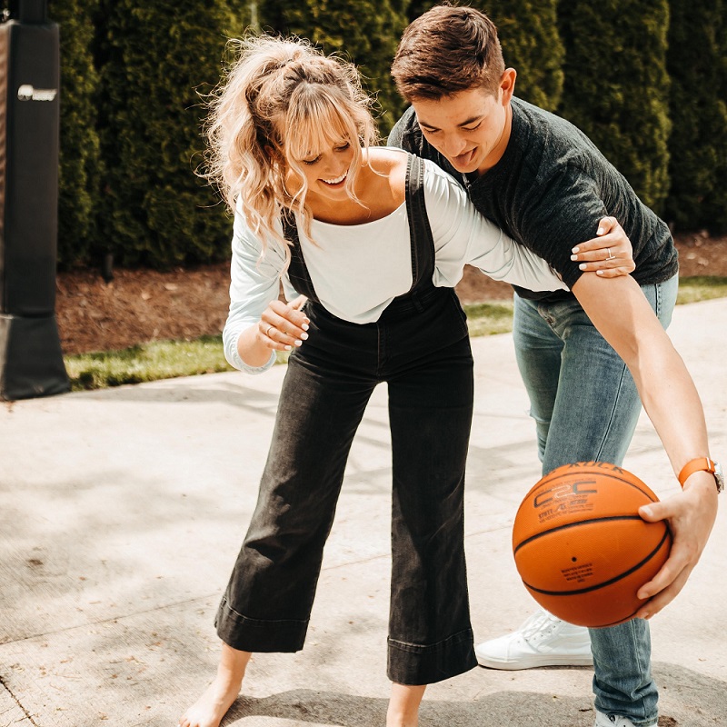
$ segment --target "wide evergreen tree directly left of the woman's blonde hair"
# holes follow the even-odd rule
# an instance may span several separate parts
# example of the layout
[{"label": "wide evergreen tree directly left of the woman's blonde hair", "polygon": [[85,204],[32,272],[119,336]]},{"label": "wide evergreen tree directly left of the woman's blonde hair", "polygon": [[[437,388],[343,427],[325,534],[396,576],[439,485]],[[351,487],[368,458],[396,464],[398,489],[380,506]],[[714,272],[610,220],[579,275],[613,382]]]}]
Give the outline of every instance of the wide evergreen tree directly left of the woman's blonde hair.
[{"label": "wide evergreen tree directly left of the woman's blonde hair", "polygon": [[223,259],[230,222],[194,171],[204,97],[220,78],[228,35],[248,17],[224,0],[102,0],[104,237],[121,264]]}]

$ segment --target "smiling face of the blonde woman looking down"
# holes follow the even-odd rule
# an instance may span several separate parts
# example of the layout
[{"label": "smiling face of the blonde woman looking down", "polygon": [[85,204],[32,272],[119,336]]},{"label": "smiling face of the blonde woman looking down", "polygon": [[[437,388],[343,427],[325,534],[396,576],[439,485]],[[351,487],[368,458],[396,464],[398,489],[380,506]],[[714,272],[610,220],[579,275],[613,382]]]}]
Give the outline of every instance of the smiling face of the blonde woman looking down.
[{"label": "smiling face of the blonde woman looking down", "polygon": [[304,154],[302,159],[288,159],[291,168],[289,176],[292,177],[289,182],[297,191],[300,179],[290,167],[291,161],[304,174],[308,185],[308,192],[305,195],[308,204],[315,204],[316,201],[330,204],[348,198],[346,180],[354,161],[354,147],[350,142],[345,140],[330,142],[321,149]]}]

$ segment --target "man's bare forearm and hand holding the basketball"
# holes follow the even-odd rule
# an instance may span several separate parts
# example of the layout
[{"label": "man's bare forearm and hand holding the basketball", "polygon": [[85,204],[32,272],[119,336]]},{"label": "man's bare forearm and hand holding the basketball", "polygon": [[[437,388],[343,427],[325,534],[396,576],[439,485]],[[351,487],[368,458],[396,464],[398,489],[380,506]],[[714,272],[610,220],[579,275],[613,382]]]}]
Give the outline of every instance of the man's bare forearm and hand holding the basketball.
[{"label": "man's bare forearm and hand holding the basketball", "polygon": [[[682,357],[631,276],[603,280],[583,274],[573,294],[593,325],[629,367],[674,473],[695,457],[709,456],[702,402]],[[717,515],[717,488],[711,474],[693,473],[662,503],[642,507],[648,521],[668,520],[673,544],[669,560],[639,591],[651,598],[637,613],[648,618],[682,590],[707,543]]]}]

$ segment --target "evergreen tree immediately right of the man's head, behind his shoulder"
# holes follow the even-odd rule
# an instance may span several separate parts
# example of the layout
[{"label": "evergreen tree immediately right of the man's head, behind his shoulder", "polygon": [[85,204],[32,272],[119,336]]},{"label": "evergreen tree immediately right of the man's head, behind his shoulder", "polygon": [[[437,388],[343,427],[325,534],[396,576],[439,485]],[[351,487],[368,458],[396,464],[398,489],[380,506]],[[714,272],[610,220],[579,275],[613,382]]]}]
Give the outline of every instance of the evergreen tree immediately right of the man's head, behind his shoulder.
[{"label": "evergreen tree immediately right of the man's head, behind his shoulder", "polygon": [[497,25],[505,65],[518,73],[515,95],[554,111],[563,93],[557,0],[506,0],[490,7],[488,15]]}]

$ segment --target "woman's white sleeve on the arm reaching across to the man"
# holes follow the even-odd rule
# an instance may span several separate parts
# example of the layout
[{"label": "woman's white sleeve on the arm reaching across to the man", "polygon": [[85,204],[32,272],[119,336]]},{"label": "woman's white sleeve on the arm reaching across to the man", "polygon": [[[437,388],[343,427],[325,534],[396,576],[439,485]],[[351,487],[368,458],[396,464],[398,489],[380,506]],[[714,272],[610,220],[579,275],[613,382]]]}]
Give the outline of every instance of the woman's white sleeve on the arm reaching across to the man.
[{"label": "woman's white sleeve on the arm reaching across to the man", "polygon": [[483,217],[452,176],[433,162],[424,164],[424,200],[436,251],[435,285],[453,287],[462,278],[464,265],[470,264],[493,280],[533,291],[566,289],[542,257]]}]

